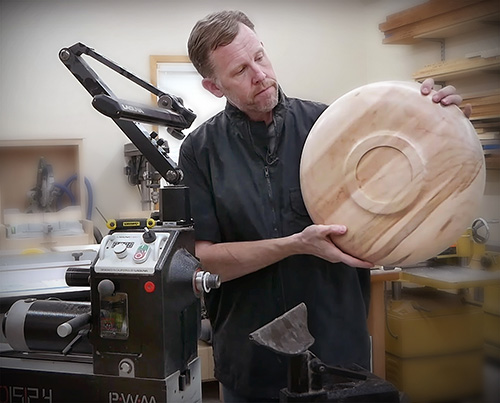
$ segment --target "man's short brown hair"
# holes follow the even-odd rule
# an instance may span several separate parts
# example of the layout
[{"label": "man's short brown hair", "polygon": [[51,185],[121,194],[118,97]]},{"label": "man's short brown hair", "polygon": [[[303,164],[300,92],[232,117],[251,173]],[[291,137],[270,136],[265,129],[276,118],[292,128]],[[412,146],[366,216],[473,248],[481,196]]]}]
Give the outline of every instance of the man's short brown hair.
[{"label": "man's short brown hair", "polygon": [[239,23],[254,30],[252,21],[241,11],[219,11],[199,20],[188,40],[188,54],[202,77],[213,75],[210,52],[230,44],[239,31]]}]

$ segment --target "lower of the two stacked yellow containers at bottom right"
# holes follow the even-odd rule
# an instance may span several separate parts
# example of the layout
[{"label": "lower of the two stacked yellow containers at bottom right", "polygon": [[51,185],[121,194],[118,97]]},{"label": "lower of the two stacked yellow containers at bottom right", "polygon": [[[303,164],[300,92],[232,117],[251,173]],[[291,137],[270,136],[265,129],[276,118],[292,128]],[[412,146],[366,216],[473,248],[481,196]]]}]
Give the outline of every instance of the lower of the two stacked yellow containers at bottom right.
[{"label": "lower of the two stacked yellow containers at bottom right", "polygon": [[482,392],[483,350],[435,357],[386,353],[386,378],[412,403],[455,401]]}]

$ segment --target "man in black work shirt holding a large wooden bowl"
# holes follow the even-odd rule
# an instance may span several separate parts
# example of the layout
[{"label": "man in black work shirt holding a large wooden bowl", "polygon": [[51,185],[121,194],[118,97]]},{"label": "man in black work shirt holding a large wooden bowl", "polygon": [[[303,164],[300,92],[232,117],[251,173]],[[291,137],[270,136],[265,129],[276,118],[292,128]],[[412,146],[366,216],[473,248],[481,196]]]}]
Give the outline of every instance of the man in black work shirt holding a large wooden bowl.
[{"label": "man in black work shirt holding a large wooden bowl", "polygon": [[[299,187],[305,139],[327,105],[283,93],[241,12],[200,20],[188,50],[203,87],[227,99],[224,111],[186,138],[179,159],[191,192],[197,257],[223,282],[206,304],[224,401],[278,399],[287,359],[248,335],[301,302],[318,358],[369,368],[366,269],[373,265],[336,247],[332,237],[348,231],[342,223],[313,225]],[[426,81],[422,93],[432,86]],[[433,99],[461,102],[451,87]]]}]

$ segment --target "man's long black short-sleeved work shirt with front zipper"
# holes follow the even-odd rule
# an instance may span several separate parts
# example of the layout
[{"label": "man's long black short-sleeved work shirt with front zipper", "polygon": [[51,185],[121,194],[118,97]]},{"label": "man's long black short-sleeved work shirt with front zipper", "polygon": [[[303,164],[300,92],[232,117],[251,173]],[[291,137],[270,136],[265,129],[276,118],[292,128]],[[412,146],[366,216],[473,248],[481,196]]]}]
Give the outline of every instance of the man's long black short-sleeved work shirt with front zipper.
[{"label": "man's long black short-sleeved work shirt with front zipper", "polygon": [[[307,134],[326,107],[280,91],[273,111],[274,152],[230,104],[186,138],[179,166],[190,188],[197,240],[269,239],[312,224],[300,192],[299,165]],[[286,387],[287,357],[248,336],[301,302],[315,337],[312,352],[330,365],[368,368],[367,290],[368,270],[310,255],[290,256],[224,282],[206,295],[215,376],[239,395],[278,397]]]}]

